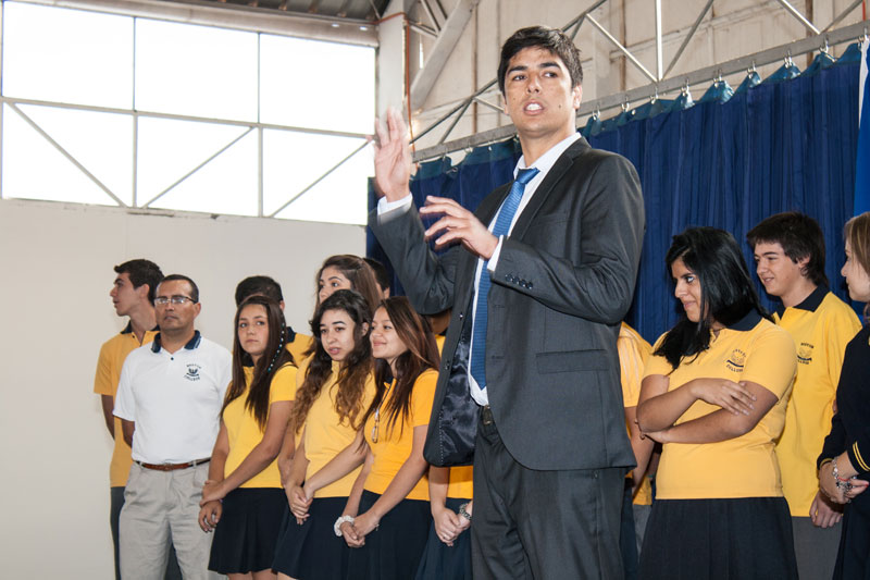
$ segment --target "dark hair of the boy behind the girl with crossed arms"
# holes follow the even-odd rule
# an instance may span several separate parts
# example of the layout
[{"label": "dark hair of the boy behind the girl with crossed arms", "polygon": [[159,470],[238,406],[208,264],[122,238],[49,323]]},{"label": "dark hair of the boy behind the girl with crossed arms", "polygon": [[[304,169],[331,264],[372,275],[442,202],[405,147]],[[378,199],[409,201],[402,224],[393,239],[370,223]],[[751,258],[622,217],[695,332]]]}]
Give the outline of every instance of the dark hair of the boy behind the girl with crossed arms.
[{"label": "dark hair of the boy behind the girl with crossed arms", "polygon": [[753,249],[758,244],[779,244],[793,262],[809,257],[801,273],[817,286],[826,286],[824,275],[824,234],[819,222],[797,211],[775,213],[746,234]]}]

